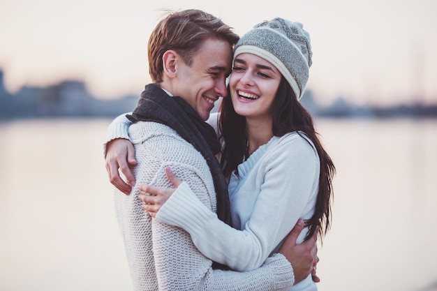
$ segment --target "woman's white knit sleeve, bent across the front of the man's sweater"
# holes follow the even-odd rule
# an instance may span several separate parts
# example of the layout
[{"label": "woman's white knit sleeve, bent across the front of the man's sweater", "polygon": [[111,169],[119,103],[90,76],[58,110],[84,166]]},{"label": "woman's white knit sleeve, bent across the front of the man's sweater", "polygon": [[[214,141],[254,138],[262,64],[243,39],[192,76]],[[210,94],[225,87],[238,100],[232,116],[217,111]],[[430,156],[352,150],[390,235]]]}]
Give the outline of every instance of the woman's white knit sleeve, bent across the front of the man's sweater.
[{"label": "woman's white knit sleeve, bent across the front of the man's sweater", "polygon": [[284,144],[265,159],[265,181],[243,230],[219,221],[187,184],[177,188],[156,219],[184,228],[195,246],[216,262],[238,271],[259,267],[315,200],[310,196],[318,179],[318,158],[304,140],[295,140],[303,143]]}]

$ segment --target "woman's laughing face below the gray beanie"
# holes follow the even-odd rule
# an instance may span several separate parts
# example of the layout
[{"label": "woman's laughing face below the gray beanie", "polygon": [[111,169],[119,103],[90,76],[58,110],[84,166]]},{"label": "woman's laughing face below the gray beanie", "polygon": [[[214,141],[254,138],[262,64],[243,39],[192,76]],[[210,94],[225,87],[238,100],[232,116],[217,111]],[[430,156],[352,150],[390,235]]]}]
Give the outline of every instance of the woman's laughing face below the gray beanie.
[{"label": "woman's laughing face below the gray beanie", "polygon": [[229,78],[230,96],[237,114],[247,119],[272,119],[272,105],[281,73],[255,54],[239,54]]}]

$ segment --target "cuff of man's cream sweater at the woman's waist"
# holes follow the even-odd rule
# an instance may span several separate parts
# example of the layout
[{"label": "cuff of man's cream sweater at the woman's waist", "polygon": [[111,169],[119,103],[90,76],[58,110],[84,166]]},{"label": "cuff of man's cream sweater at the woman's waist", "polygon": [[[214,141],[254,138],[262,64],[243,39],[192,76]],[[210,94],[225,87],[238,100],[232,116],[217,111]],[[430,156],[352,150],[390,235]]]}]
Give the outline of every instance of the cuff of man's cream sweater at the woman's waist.
[{"label": "cuff of man's cream sweater at the woman's waist", "polygon": [[290,289],[295,283],[295,274],[290,262],[281,253],[275,253],[264,262],[272,269],[275,290]]}]

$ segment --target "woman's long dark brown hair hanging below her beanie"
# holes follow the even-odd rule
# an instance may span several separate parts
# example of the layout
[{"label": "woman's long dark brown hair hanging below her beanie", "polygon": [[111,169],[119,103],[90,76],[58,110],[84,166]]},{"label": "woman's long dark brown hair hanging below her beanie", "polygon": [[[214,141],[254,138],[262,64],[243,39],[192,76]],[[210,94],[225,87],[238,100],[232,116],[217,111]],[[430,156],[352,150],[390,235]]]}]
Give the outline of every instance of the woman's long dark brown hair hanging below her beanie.
[{"label": "woman's long dark brown hair hanging below her beanie", "polygon": [[[229,96],[229,94],[228,94]],[[237,170],[237,166],[249,156],[247,149],[246,119],[237,114],[230,97],[223,98],[221,103],[219,128],[225,142],[221,165],[226,177]],[[297,100],[290,84],[282,77],[276,97],[273,102],[273,135],[282,136],[286,133],[302,131],[313,142],[320,158],[320,176],[316,209],[313,216],[305,221],[309,239],[316,227],[320,225],[319,235],[323,237],[331,224],[332,178],[335,174],[334,163],[329,158],[314,129],[313,117]],[[301,134],[301,133],[299,133]]]}]

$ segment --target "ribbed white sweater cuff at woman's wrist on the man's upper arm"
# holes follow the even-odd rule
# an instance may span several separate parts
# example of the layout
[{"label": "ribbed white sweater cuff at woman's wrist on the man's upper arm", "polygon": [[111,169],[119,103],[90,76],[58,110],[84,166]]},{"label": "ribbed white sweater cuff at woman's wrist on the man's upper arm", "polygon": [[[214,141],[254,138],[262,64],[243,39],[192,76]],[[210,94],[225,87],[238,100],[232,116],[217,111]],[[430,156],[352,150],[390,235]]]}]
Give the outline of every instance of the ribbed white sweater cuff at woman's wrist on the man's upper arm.
[{"label": "ribbed white sweater cuff at woman's wrist on the man's upper arm", "polygon": [[198,200],[186,182],[176,188],[156,214],[158,221],[182,227],[190,233],[198,232],[214,218],[216,214]]}]

